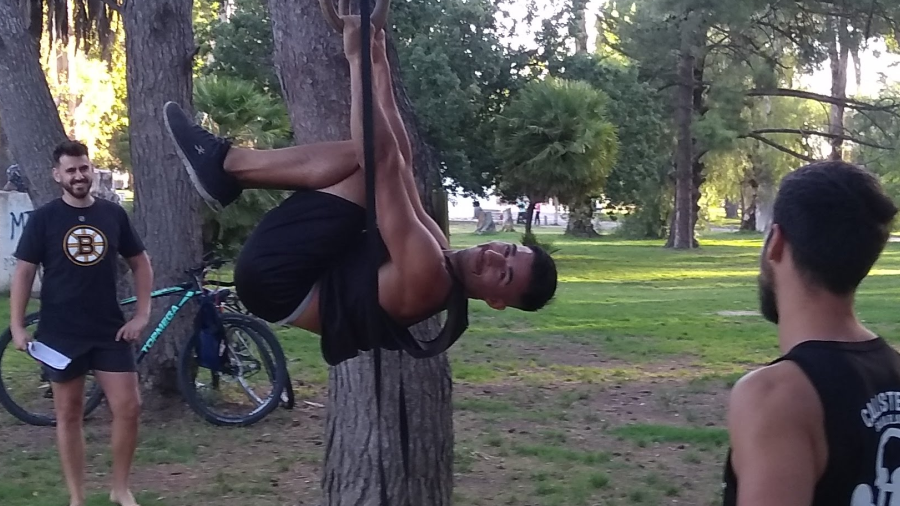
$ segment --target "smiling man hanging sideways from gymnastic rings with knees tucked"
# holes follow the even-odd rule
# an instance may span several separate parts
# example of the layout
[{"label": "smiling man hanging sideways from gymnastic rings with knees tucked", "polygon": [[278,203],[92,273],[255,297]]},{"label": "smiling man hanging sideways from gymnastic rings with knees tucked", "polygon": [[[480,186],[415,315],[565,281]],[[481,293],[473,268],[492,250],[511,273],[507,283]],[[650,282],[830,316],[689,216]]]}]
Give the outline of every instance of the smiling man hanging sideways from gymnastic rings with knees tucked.
[{"label": "smiling man hanging sideways from gymnastic rings with knees tucked", "polygon": [[[556,292],[553,259],[542,249],[491,242],[450,250],[425,213],[412,172],[412,148],[391,87],[384,31],[372,29],[376,214],[381,247],[364,229],[360,18],[343,16],[351,75],[351,138],[284,149],[233,147],[197,126],[174,103],[166,124],[191,180],[221,210],[249,188],[294,190],[262,219],[235,266],[236,291],[255,315],[323,337],[329,364],[373,346],[415,347],[407,327],[445,309],[445,328],[459,337],[469,298],[494,309],[541,309]],[[376,255],[377,328],[366,320],[367,258]]]}]

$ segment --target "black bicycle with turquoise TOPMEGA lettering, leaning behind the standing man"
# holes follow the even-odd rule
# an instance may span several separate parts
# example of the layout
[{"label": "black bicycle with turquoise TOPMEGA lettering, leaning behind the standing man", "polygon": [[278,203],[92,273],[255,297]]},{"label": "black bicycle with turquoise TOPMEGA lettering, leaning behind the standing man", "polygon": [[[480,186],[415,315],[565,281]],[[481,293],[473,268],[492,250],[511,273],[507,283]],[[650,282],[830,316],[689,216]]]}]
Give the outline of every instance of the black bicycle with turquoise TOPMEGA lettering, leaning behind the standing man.
[{"label": "black bicycle with turquoise TOPMEGA lettering, leaning behind the standing man", "polygon": [[[272,412],[280,402],[283,402],[282,394],[289,389],[287,384],[287,364],[284,351],[278,342],[275,333],[261,320],[248,315],[225,311],[222,300],[230,296],[229,290],[210,290],[204,286],[204,278],[210,268],[219,268],[224,265],[220,260],[204,261],[199,267],[185,271],[190,280],[175,286],[155,290],[151,298],[180,296],[177,303],[173,304],[157,323],[153,332],[136,351],[136,360],[140,363],[150,352],[159,337],[166,331],[173,319],[192,300],[202,304],[211,301],[216,308],[218,323],[224,330],[220,334],[220,340],[210,340],[194,329],[191,336],[184,340],[180,348],[178,358],[178,384],[181,393],[191,409],[214,425],[247,426],[252,425]],[[137,301],[135,297],[128,297],[120,301],[123,306],[129,306]],[[26,317],[26,327],[36,325],[40,318],[40,312],[34,312]],[[32,332],[33,335],[33,332]],[[245,337],[244,337],[245,336]],[[0,364],[10,346],[12,334],[9,329],[0,335]],[[250,345],[254,345],[259,351],[259,357],[251,355]],[[42,401],[52,399],[52,388],[41,373],[31,371],[29,366],[37,366],[39,363],[25,353],[12,354],[12,363],[8,366],[0,366],[0,404],[19,420],[38,426],[54,426],[56,419],[52,406],[49,414],[35,413],[30,407],[23,407],[17,403],[10,394],[11,387],[25,386],[26,400]],[[201,371],[209,372],[209,381],[201,382]],[[248,379],[253,378],[263,371],[270,390],[260,397],[248,386]],[[23,374],[25,373],[25,374]],[[29,378],[37,378],[36,388],[27,386]],[[204,378],[205,379],[205,378]],[[224,381],[223,381],[224,380]],[[223,397],[221,387],[223,383],[233,383],[240,386],[255,407],[246,414],[218,413],[212,408],[209,401],[220,397],[226,400],[226,404],[233,405],[234,397]],[[201,392],[209,387],[210,399]],[[84,416],[87,417],[102,402],[103,391],[96,381],[91,379],[85,387]]]}]

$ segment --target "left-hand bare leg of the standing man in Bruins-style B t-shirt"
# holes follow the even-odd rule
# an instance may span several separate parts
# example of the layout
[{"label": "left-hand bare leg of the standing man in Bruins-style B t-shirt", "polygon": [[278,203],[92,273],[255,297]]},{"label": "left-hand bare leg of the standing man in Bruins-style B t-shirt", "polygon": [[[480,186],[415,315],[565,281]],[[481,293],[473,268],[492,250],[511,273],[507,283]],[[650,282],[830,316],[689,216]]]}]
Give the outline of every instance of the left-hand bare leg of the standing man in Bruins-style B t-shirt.
[{"label": "left-hand bare leg of the standing man in Bruins-style B t-shirt", "polygon": [[84,376],[65,383],[53,383],[53,404],[69,506],[84,506]]}]

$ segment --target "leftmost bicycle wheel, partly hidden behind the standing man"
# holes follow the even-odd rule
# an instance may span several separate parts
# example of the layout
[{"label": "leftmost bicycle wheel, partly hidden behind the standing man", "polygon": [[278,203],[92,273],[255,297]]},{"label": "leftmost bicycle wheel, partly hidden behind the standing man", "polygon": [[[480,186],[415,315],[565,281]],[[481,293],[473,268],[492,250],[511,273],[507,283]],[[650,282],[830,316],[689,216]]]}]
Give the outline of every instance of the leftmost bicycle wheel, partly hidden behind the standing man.
[{"label": "leftmost bicycle wheel, partly hidden behind the standing man", "polygon": [[[25,327],[32,335],[38,319],[38,313],[25,318]],[[84,391],[84,416],[87,417],[103,400],[103,389],[93,374],[88,374]],[[13,347],[8,328],[0,334],[0,405],[27,424],[56,425],[52,385],[44,376],[40,362]]]}]

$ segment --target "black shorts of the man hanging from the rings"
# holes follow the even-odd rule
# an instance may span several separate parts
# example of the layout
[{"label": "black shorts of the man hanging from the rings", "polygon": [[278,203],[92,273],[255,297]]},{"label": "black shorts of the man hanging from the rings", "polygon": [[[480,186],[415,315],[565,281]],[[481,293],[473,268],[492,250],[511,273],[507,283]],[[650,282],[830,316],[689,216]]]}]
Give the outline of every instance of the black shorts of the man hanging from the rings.
[{"label": "black shorts of the man hanging from the rings", "polygon": [[315,190],[300,190],[263,217],[234,269],[244,306],[271,323],[299,316],[306,297],[347,252],[362,247],[363,207]]}]

